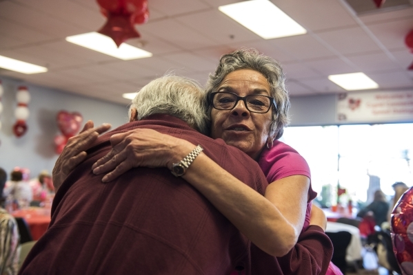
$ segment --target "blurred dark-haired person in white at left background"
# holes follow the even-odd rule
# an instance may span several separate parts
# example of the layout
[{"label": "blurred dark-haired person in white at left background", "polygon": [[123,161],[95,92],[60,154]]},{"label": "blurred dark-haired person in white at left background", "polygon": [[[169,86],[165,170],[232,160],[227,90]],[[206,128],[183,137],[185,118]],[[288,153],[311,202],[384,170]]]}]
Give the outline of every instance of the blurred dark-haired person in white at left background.
[{"label": "blurred dark-haired person in white at left background", "polygon": [[[3,194],[6,195],[7,201],[17,203],[17,208],[27,208],[33,199],[32,188],[28,181],[23,181],[21,169],[15,168],[10,174],[10,181],[6,186]],[[15,210],[15,209],[13,209]]]}]

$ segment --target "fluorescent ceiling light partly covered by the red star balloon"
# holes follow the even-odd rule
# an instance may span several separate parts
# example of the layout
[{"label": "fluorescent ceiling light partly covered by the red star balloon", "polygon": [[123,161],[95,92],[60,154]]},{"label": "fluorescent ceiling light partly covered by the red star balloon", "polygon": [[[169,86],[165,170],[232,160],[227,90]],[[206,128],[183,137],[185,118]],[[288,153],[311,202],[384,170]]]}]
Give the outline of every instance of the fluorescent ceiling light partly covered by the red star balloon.
[{"label": "fluorescent ceiling light partly covered by the red star balloon", "polygon": [[152,56],[150,52],[146,52],[126,43],[122,43],[120,47],[117,47],[110,37],[99,34],[98,32],[88,32],[86,34],[68,36],[66,37],[66,41],[125,61]]}]

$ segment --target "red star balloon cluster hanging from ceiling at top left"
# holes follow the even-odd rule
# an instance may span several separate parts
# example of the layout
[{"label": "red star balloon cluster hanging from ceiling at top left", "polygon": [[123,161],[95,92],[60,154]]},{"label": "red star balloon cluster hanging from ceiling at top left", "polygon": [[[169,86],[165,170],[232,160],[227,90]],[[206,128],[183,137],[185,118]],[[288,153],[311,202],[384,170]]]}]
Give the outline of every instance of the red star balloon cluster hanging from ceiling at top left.
[{"label": "red star balloon cluster hanging from ceiling at top left", "polygon": [[140,37],[134,24],[148,21],[147,0],[97,0],[97,3],[101,14],[108,18],[99,33],[109,36],[118,47],[128,39]]}]

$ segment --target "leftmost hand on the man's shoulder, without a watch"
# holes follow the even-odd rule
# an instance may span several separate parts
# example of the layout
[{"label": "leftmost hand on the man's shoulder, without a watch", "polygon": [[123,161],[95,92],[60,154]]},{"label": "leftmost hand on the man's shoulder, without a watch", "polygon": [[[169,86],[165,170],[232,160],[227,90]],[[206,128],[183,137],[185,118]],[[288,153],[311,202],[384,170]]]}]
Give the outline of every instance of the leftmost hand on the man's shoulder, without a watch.
[{"label": "leftmost hand on the man's shoulder, without a watch", "polygon": [[57,158],[52,172],[53,186],[56,192],[72,170],[83,162],[86,155],[88,155],[85,151],[90,148],[101,133],[108,131],[111,125],[103,123],[96,128],[93,128],[93,126],[92,120],[88,120],[79,135],[68,139],[63,152]]}]

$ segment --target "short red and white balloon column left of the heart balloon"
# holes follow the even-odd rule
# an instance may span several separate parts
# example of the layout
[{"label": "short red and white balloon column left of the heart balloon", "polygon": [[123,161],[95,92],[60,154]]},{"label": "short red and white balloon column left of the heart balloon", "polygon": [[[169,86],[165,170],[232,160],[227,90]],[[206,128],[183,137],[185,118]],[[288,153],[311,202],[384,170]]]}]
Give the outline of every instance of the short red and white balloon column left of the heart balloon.
[{"label": "short red and white balloon column left of the heart balloon", "polygon": [[24,135],[28,129],[26,120],[29,118],[28,104],[30,102],[30,94],[26,86],[20,86],[17,94],[17,108],[14,110],[14,116],[17,121],[13,125],[13,133],[17,137]]}]

